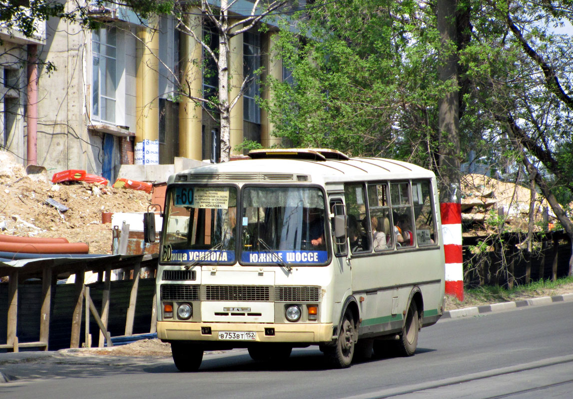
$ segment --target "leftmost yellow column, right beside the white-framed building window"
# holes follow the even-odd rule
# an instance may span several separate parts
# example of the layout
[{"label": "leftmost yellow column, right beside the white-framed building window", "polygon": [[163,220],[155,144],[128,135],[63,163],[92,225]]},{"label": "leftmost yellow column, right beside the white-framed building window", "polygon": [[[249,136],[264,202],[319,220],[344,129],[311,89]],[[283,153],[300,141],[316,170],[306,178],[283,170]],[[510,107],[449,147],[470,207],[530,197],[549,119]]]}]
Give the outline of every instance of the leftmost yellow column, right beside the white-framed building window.
[{"label": "leftmost yellow column, right beside the white-framed building window", "polygon": [[150,27],[138,27],[136,42],[135,142],[159,138],[159,31],[157,17]]}]

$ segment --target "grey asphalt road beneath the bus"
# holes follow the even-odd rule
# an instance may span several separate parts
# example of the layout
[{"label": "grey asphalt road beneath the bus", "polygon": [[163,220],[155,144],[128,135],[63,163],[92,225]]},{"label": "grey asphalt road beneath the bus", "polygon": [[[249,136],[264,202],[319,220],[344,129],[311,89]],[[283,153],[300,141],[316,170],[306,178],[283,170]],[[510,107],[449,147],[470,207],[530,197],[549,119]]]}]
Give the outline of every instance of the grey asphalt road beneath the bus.
[{"label": "grey asphalt road beneath the bus", "polygon": [[246,350],[206,354],[198,373],[166,358],[15,355],[0,354],[15,377],[0,398],[571,398],[573,302],[443,320],[422,329],[414,357],[345,370],[315,347],[280,365]]}]

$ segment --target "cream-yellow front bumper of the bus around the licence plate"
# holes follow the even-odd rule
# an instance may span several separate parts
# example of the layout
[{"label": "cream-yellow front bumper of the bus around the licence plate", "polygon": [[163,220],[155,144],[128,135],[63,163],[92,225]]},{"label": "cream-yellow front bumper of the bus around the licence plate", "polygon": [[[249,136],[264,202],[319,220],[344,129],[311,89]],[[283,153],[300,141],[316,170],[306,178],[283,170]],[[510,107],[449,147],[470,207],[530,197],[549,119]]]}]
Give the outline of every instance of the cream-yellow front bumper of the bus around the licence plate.
[{"label": "cream-yellow front bumper of the bus around the licence plate", "polygon": [[[201,327],[211,327],[211,334],[202,334]],[[265,335],[273,328],[274,335]],[[219,341],[219,331],[255,331],[254,341]],[[233,345],[252,342],[328,343],[332,341],[332,323],[194,323],[158,321],[157,336],[164,341],[213,341]]]}]

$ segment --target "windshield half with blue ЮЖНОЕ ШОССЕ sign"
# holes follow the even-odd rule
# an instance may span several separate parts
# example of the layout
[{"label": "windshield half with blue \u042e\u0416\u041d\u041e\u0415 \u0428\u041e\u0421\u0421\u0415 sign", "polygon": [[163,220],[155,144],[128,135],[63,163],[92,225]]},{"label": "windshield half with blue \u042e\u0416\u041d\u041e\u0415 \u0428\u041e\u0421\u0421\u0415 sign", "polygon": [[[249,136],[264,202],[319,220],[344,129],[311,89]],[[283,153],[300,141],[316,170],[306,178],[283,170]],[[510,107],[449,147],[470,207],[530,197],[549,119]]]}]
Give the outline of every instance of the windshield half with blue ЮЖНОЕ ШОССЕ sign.
[{"label": "windshield half with blue \u042e\u0416\u041d\u041e\u0415 \u0428\u041e\u0421\u0421\u0415 sign", "polygon": [[241,263],[325,264],[324,195],[313,187],[242,189]]}]

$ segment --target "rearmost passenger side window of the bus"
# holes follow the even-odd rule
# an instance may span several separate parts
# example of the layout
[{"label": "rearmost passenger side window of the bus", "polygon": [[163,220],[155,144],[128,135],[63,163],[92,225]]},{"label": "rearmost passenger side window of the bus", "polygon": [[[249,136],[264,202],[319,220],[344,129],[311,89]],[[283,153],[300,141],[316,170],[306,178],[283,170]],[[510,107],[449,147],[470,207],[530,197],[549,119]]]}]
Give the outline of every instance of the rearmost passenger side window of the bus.
[{"label": "rearmost passenger side window of the bus", "polygon": [[437,244],[430,181],[414,181],[412,183],[412,199],[418,246]]}]

